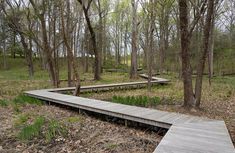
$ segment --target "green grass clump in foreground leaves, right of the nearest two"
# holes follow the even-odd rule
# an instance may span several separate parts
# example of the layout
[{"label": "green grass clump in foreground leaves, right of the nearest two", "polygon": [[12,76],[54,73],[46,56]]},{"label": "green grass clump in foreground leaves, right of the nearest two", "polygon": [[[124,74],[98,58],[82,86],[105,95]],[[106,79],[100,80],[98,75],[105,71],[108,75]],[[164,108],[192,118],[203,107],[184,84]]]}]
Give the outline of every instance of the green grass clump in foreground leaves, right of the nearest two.
[{"label": "green grass clump in foreground leaves, right of the nearest two", "polygon": [[53,138],[65,136],[67,129],[64,125],[56,120],[51,120],[48,124],[48,129],[45,134],[46,142],[51,142]]}]

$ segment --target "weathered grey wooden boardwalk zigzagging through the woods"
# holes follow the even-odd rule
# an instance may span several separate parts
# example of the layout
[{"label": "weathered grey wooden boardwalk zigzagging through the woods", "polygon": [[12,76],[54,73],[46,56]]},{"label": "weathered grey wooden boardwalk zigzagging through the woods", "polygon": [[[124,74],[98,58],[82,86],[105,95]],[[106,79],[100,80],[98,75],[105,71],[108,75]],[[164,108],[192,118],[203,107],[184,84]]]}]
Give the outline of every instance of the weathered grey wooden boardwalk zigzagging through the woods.
[{"label": "weathered grey wooden boardwalk zigzagging through the woods", "polygon": [[[134,84],[135,82],[112,85],[126,87]],[[112,85],[85,86],[82,90],[112,88]],[[25,93],[50,102],[169,129],[154,153],[235,153],[224,121],[75,97],[55,91],[65,91],[65,88]]]}]

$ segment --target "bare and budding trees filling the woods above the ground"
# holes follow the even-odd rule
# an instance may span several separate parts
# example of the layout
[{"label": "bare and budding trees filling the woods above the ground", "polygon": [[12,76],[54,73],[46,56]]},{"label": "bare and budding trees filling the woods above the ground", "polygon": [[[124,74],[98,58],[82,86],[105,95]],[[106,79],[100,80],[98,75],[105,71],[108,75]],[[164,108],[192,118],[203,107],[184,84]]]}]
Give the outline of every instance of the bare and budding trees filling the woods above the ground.
[{"label": "bare and budding trees filling the woods above the ground", "polygon": [[[1,0],[1,67],[9,56],[25,58],[29,77],[34,59],[60,83],[60,59],[67,59],[68,86],[79,72],[104,68],[172,71],[184,82],[185,106],[199,106],[202,76],[234,73],[235,2],[233,0]],[[82,66],[78,65],[82,63]],[[93,63],[92,66],[90,63]],[[192,75],[196,74],[193,88]]]}]

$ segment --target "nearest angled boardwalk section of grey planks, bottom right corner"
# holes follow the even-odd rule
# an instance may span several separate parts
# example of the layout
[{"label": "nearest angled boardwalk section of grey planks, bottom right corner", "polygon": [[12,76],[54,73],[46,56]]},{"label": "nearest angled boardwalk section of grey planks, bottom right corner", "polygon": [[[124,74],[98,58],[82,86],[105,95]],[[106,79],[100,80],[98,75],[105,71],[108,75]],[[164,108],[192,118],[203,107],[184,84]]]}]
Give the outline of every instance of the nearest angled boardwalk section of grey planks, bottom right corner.
[{"label": "nearest angled boardwalk section of grey planks, bottom right corner", "polygon": [[173,125],[154,153],[234,153],[224,122]]}]

